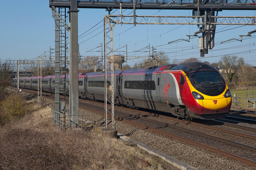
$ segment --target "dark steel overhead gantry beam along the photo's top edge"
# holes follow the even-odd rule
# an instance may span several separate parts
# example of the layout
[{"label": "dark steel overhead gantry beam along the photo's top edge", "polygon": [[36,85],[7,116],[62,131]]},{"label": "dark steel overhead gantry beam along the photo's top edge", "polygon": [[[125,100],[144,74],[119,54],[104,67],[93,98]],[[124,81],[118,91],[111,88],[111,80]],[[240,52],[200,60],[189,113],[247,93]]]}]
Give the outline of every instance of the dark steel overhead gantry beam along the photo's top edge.
[{"label": "dark steel overhead gantry beam along the photo's top edge", "polygon": [[[183,10],[255,10],[255,0],[193,0],[189,3],[182,0],[137,0],[136,9],[183,9]],[[120,3],[123,4],[123,9],[133,9],[133,1],[124,0],[87,0],[77,1],[78,8],[103,8],[103,9],[118,9]],[[50,0],[50,6],[70,7],[70,1]]]}]

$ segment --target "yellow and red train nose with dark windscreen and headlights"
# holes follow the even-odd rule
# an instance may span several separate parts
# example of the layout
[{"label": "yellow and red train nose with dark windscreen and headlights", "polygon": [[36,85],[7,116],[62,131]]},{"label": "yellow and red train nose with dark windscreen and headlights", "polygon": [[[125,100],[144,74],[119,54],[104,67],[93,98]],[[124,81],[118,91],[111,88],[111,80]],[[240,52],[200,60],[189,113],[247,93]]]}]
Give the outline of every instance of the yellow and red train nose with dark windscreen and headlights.
[{"label": "yellow and red train nose with dark windscreen and headlights", "polygon": [[231,107],[231,93],[218,71],[199,70],[183,75],[186,83],[181,94],[189,117],[217,119],[227,115]]}]

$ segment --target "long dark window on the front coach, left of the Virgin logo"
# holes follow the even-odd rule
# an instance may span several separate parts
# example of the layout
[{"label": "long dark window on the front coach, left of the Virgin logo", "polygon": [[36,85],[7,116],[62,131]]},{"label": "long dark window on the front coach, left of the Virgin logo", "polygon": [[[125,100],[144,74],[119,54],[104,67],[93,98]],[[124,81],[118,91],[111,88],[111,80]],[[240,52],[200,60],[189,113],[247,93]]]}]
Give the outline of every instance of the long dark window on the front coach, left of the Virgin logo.
[{"label": "long dark window on the front coach, left of the Virgin logo", "polygon": [[155,81],[124,81],[125,89],[155,90]]}]

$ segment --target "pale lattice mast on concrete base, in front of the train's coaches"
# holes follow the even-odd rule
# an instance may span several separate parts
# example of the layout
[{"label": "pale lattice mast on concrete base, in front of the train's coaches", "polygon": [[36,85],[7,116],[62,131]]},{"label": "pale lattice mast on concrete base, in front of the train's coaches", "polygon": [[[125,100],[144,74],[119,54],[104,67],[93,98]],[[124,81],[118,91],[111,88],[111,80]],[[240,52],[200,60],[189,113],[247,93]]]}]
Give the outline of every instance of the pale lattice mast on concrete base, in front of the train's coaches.
[{"label": "pale lattice mast on concrete base, in front of the train's coaches", "polygon": [[[111,114],[112,130],[115,127],[114,114],[114,60],[113,60],[113,28],[112,24],[104,17],[104,78],[105,78],[105,130],[108,129],[107,114]],[[109,103],[109,105],[108,105]]]}]

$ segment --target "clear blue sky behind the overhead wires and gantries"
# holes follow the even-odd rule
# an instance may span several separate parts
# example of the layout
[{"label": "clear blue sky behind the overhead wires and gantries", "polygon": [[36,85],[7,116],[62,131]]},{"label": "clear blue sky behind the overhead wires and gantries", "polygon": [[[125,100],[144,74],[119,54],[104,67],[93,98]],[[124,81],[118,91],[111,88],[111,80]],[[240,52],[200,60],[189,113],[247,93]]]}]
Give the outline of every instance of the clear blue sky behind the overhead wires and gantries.
[{"label": "clear blue sky behind the overhead wires and gantries", "polygon": [[[1,27],[0,27],[0,59],[6,60],[31,60],[55,47],[54,19],[48,7],[49,1],[4,1],[1,0]],[[103,16],[108,12],[105,9],[79,9],[78,35],[91,29],[87,36],[80,36],[78,42],[80,54],[83,56],[98,56],[100,52],[87,52],[104,42]],[[115,9],[112,11],[114,12]],[[113,14],[118,15],[120,10]],[[123,15],[128,15],[133,10],[123,10]],[[192,10],[136,10],[137,15],[181,15],[191,16]],[[222,11],[219,16],[237,16],[238,11]],[[131,15],[131,14],[130,14]],[[255,11],[239,11],[239,16],[255,16]],[[98,29],[97,29],[98,28]],[[95,30],[96,29],[96,30]],[[256,66],[256,33],[251,37],[243,37],[243,41],[220,42],[228,39],[240,39],[239,35],[247,35],[255,30],[253,26],[217,25],[215,34],[215,47],[200,57],[198,50],[198,37],[191,37],[190,42],[181,41],[169,45],[168,42],[177,39],[187,39],[186,35],[193,35],[199,31],[197,25],[117,25],[114,28],[114,49],[127,44],[128,55],[146,56],[149,53],[134,52],[150,44],[155,51],[164,51],[170,61],[184,60],[190,57],[199,58],[210,63],[218,62],[224,55],[244,57],[247,63]],[[95,30],[95,31],[94,31]],[[124,32],[125,31],[125,32]],[[198,34],[201,36],[201,34]],[[82,37],[82,38],[81,38]],[[92,38],[91,38],[92,37]],[[88,39],[88,40],[87,40]],[[94,50],[100,50],[96,48]],[[122,49],[124,51],[125,49]],[[148,49],[147,49],[148,50]],[[147,51],[146,50],[146,51]],[[119,52],[114,53],[119,54]],[[120,52],[123,54],[123,52]],[[53,54],[54,55],[54,54]],[[129,65],[134,65],[138,60],[129,60]]]}]

